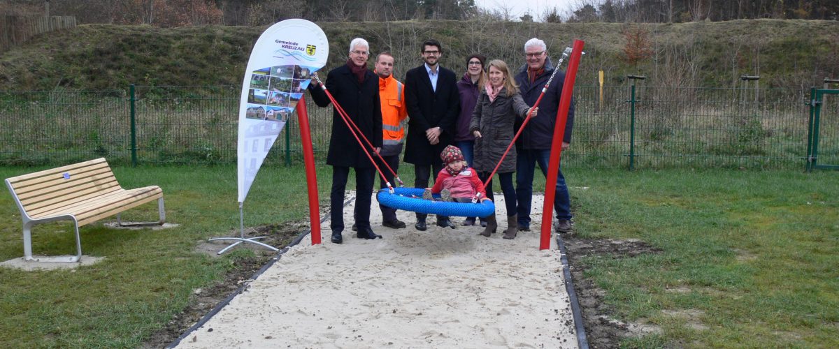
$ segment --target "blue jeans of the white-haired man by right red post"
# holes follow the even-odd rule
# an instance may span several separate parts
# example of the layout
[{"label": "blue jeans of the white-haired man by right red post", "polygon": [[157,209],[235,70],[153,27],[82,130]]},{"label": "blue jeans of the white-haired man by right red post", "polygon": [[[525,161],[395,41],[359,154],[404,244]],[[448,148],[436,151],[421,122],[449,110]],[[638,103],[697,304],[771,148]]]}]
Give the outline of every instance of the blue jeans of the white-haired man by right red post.
[{"label": "blue jeans of the white-haired man by right red post", "polygon": [[[550,149],[526,150],[516,149],[516,197],[519,199],[519,225],[530,227],[530,200],[533,198],[533,174],[536,164],[542,169],[545,178],[548,177],[548,162]],[[557,219],[571,219],[571,198],[562,170],[556,173],[556,189],[554,210]]]}]

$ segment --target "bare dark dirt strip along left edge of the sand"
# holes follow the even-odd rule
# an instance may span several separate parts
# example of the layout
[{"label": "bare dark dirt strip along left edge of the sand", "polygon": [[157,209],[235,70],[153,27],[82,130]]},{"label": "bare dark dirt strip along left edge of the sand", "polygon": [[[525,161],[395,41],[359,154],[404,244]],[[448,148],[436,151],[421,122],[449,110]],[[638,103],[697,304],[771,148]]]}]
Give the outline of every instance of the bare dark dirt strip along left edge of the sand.
[{"label": "bare dark dirt strip along left edge of the sand", "polygon": [[[278,249],[283,249],[294,241],[301,232],[308,229],[309,226],[305,223],[269,224],[255,228],[245,228],[245,237],[264,236],[265,239],[258,239],[258,241]],[[240,233],[238,230],[235,230],[228,232],[224,236],[238,237]],[[204,241],[199,243],[195,250],[196,252],[205,253],[212,257],[221,257],[217,252],[233,242],[235,241]],[[202,317],[212,311],[216,305],[227,299],[239,287],[251,280],[253,275],[263,265],[268,264],[277,255],[277,252],[263,248],[257,244],[239,244],[233,249],[251,249],[255,256],[235,259],[233,268],[227,270],[224,280],[219,281],[216,285],[195,290],[193,292],[195,298],[190,305],[180,314],[174,316],[162,330],[150,336],[149,340],[145,341],[141,347],[162,348],[175,341],[181,334],[185,333],[191,326],[200,321]],[[231,250],[228,250],[226,254]]]}]

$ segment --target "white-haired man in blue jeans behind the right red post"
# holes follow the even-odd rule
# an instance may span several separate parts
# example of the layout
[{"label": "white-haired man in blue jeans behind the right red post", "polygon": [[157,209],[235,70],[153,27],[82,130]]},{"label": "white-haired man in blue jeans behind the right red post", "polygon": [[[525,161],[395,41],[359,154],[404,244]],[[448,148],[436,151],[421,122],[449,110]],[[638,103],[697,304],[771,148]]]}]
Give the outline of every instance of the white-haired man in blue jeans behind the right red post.
[{"label": "white-haired man in blue jeans behind the right red post", "polygon": [[[534,105],[542,88],[547,84],[550,75],[554,73],[554,67],[548,58],[548,48],[545,41],[539,38],[531,38],[524,44],[524,55],[527,64],[522,67],[519,74],[516,74],[516,83],[519,84],[524,103]],[[560,106],[560,95],[562,95],[562,84],[565,82],[565,73],[556,72],[554,80],[551,81],[545,96],[539,102],[539,116],[528,121],[519,140],[516,141],[516,197],[518,198],[519,230],[530,230],[530,202],[533,198],[533,177],[535,165],[539,164],[542,174],[548,176],[548,162],[550,160],[550,145],[554,136],[556,124],[556,110]],[[571,130],[574,127],[574,101],[571,100],[571,107],[568,109],[568,120],[565,123],[565,136],[562,140],[562,149],[565,150],[571,144]],[[521,121],[516,121],[516,129],[521,126]],[[547,189],[547,188],[546,188]],[[568,195],[568,187],[565,186],[565,177],[562,171],[557,172],[554,197],[554,208],[556,211],[556,231],[568,233],[571,231],[571,198]]]}]

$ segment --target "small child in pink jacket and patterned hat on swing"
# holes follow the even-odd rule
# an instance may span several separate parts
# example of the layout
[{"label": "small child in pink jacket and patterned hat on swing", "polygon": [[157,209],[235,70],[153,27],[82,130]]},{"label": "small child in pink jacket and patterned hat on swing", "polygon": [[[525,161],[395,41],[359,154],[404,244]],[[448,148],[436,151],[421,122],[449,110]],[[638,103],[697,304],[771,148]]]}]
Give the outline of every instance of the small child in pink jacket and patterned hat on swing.
[{"label": "small child in pink jacket and patterned hat on swing", "polygon": [[434,187],[425,188],[423,198],[430,200],[432,193],[440,192],[443,201],[472,203],[472,199],[480,193],[477,199],[488,200],[487,191],[481,179],[477,177],[477,172],[466,163],[460,148],[446,146],[446,149],[440,153],[440,158],[443,159],[446,167],[437,174]]}]

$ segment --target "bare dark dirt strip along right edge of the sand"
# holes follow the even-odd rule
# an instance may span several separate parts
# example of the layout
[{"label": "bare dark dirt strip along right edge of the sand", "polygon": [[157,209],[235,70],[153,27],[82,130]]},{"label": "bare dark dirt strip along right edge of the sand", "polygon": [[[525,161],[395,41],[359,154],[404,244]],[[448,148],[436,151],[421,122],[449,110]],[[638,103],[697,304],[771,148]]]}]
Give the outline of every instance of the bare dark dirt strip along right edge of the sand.
[{"label": "bare dark dirt strip along right edge of the sand", "polygon": [[573,234],[562,236],[565,250],[571,265],[571,279],[582,311],[583,324],[586,327],[586,339],[591,348],[615,348],[626,337],[644,336],[660,332],[660,328],[645,323],[632,323],[612,319],[615,313],[611,306],[603,302],[605,291],[591,280],[583,278],[586,265],[581,259],[592,255],[612,258],[634,257],[638,254],[655,254],[655,249],[638,239],[579,239]]}]

